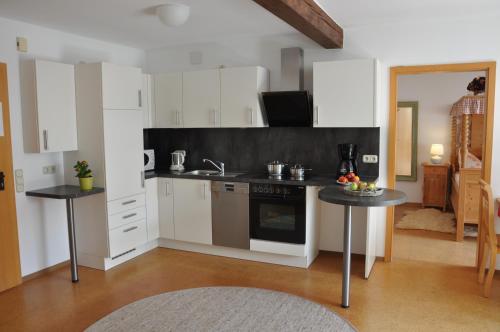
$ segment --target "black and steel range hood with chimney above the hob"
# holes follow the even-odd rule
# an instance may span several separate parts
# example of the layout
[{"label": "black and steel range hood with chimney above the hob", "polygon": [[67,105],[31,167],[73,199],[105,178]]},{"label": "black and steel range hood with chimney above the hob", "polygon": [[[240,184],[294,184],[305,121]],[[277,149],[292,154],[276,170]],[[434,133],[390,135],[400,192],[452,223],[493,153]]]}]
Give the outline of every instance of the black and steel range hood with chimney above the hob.
[{"label": "black and steel range hood with chimney above the hob", "polygon": [[270,127],[311,127],[311,100],[304,90],[304,51],[281,49],[280,91],[262,93]]}]

